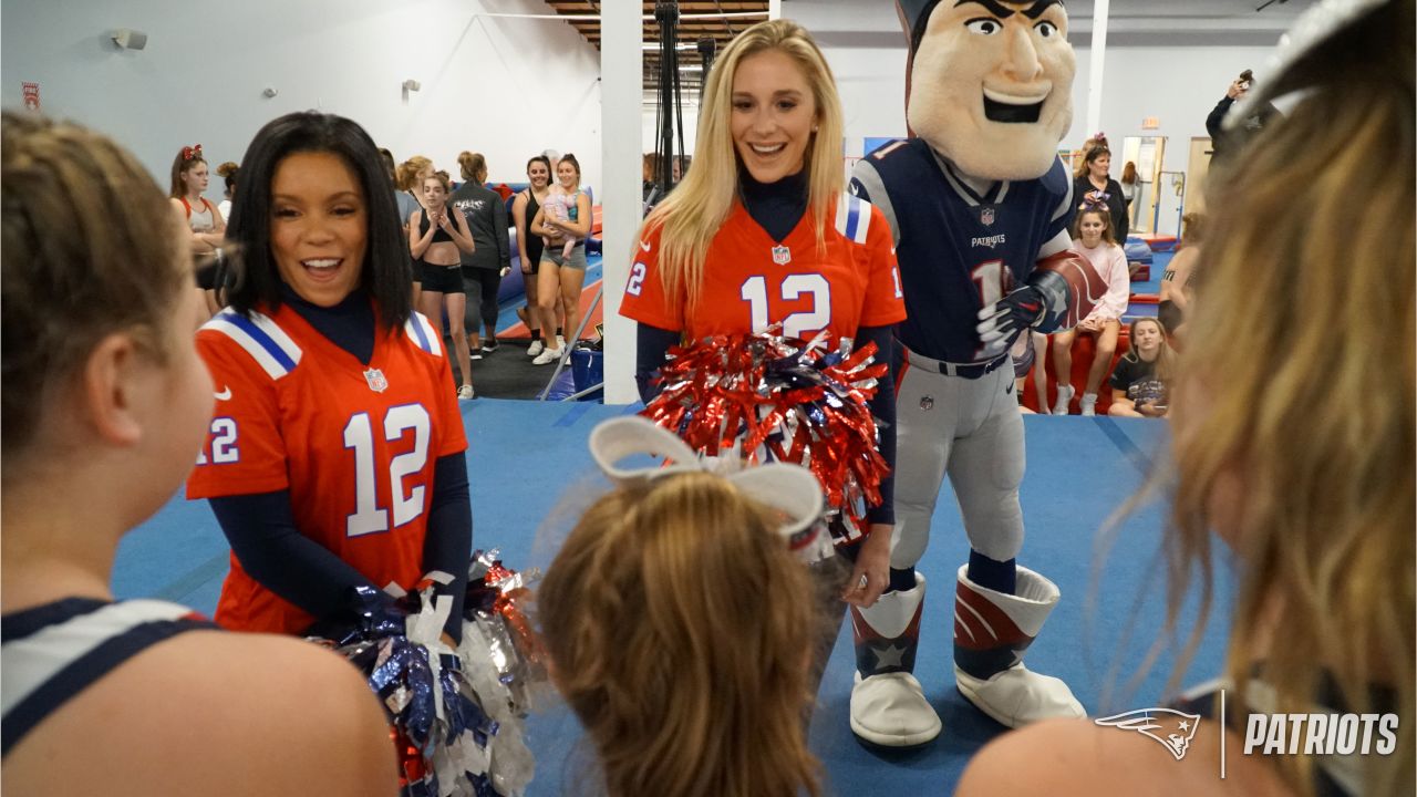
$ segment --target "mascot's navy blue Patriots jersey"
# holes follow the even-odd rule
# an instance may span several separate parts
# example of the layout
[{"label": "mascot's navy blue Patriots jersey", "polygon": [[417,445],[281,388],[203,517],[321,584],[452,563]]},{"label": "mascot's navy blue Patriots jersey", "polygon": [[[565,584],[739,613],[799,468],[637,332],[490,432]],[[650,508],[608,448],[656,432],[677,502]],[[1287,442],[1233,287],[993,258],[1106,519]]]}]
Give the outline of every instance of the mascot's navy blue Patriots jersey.
[{"label": "mascot's navy blue Patriots jersey", "polygon": [[907,313],[900,342],[951,363],[989,360],[975,333],[979,309],[1054,254],[1044,245],[1074,214],[1061,160],[1043,177],[993,183],[979,194],[924,139],[893,142],[859,160],[852,193],[881,208],[896,240]]}]

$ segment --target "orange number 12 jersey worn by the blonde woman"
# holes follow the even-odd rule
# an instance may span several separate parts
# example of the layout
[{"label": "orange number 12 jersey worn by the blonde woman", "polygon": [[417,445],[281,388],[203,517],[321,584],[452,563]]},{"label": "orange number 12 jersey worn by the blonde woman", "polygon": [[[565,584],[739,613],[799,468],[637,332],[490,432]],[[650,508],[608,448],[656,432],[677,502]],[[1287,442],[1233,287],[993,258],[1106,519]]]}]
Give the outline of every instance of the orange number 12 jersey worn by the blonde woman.
[{"label": "orange number 12 jersey worn by the blonde woman", "polygon": [[782,323],[791,338],[826,329],[832,346],[862,326],[905,319],[890,227],[859,197],[840,196],[822,248],[811,211],[779,244],[735,201],[708,245],[703,292],[693,309],[684,295],[665,292],[657,271],[660,231],[656,227],[639,241],[621,301],[621,315],[638,322],[683,332],[690,340]]}]

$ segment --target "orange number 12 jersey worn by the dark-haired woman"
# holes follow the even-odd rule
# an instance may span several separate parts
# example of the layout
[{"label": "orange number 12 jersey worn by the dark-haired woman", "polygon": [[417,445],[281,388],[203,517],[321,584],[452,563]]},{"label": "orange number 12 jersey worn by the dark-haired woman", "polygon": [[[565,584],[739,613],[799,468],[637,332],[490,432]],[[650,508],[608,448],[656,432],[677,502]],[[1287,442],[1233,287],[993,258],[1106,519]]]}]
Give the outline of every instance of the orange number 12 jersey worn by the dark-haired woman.
[{"label": "orange number 12 jersey worn by the dark-haired woman", "polygon": [[[222,311],[197,333],[217,389],[187,498],[290,491],[296,528],[374,584],[424,574],[434,464],[468,448],[435,328],[414,315],[380,332],[364,366],[289,305]],[[217,623],[296,634],[315,618],[231,556]]]}]

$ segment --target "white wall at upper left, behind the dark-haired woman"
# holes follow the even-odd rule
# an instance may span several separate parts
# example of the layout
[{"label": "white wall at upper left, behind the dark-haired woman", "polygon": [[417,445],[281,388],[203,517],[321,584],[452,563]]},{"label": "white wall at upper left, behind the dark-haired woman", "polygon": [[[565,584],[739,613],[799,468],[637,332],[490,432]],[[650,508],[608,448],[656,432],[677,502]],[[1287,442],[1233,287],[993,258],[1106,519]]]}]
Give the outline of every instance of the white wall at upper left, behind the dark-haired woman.
[{"label": "white wall at upper left, behind the dark-haired woman", "polygon": [[[220,13],[215,13],[220,9]],[[527,157],[574,152],[601,182],[599,55],[538,0],[6,0],[0,104],[40,84],[43,109],[132,149],[167,186],[173,156],[241,160],[265,122],[290,111],[350,116],[402,160],[419,153],[458,179],[458,153],[487,156],[493,180],[524,180]],[[108,31],[149,34],[118,50]],[[407,78],[422,89],[402,96]],[[279,94],[261,95],[266,87]],[[208,196],[221,193],[213,180]]]}]

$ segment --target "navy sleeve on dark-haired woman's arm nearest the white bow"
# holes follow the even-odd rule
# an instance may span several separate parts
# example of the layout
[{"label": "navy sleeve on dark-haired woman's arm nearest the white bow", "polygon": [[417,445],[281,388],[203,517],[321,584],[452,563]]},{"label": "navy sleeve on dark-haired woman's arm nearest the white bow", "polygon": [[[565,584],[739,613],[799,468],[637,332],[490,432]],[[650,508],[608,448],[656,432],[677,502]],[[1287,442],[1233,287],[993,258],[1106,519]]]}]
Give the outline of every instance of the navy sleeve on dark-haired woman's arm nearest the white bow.
[{"label": "navy sleeve on dark-haired woman's arm nearest the white bow", "polygon": [[468,562],[472,559],[472,496],[468,492],[468,458],[439,457],[434,464],[434,498],[428,506],[424,537],[424,573],[442,570],[452,581],[434,593],[452,597],[452,614],[444,631],[462,641],[462,604],[468,597]]}]

